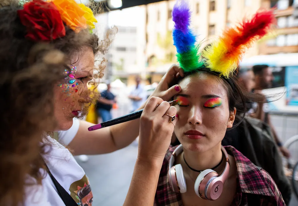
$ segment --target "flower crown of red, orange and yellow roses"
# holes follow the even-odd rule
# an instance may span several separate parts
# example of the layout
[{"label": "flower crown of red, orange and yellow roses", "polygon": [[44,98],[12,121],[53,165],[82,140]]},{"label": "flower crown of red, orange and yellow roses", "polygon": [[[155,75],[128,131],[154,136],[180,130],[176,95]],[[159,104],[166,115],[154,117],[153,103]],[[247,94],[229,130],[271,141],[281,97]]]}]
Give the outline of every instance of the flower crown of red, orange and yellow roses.
[{"label": "flower crown of red, orange and yellow roses", "polygon": [[66,35],[65,27],[78,33],[88,29],[92,33],[97,22],[90,8],[75,0],[33,0],[25,2],[18,16],[27,28],[26,38],[32,41],[51,41]]}]

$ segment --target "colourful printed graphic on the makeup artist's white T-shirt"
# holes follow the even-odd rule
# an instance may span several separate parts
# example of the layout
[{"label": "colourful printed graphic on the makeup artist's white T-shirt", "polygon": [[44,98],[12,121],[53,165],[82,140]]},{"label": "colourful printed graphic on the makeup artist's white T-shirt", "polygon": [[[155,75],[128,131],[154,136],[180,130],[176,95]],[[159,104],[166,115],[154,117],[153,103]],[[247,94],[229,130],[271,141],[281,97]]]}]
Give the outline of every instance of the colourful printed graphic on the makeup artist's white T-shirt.
[{"label": "colourful printed graphic on the makeup artist's white T-shirt", "polygon": [[93,194],[86,175],[82,179],[72,183],[69,187],[70,196],[79,206],[92,206]]}]

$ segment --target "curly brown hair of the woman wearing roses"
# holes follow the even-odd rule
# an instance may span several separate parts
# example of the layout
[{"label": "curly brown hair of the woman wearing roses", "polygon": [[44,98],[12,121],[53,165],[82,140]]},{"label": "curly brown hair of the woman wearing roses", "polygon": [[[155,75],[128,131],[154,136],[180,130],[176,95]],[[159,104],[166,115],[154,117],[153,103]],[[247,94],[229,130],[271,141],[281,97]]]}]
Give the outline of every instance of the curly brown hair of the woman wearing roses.
[{"label": "curly brown hair of the woman wearing roses", "polygon": [[[65,64],[71,56],[87,46],[94,55],[105,53],[115,32],[108,30],[103,40],[87,30],[79,33],[66,27],[66,36],[47,43],[25,39],[26,28],[21,24],[17,2],[0,0],[0,202],[16,206],[24,201],[24,186],[28,175],[38,184],[44,174],[46,128],[55,127],[53,88],[65,78]],[[95,77],[102,76],[103,67]],[[35,182],[35,181],[34,181]]]}]

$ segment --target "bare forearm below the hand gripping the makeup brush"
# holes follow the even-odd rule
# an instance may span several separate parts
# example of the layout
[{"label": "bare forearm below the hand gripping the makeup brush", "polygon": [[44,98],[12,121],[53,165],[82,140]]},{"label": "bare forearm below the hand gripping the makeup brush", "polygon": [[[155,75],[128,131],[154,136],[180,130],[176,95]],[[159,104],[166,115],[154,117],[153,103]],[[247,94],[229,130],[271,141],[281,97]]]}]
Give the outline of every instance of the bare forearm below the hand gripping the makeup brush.
[{"label": "bare forearm below the hand gripping the makeup brush", "polygon": [[134,174],[123,206],[153,206],[162,161],[136,161]]}]

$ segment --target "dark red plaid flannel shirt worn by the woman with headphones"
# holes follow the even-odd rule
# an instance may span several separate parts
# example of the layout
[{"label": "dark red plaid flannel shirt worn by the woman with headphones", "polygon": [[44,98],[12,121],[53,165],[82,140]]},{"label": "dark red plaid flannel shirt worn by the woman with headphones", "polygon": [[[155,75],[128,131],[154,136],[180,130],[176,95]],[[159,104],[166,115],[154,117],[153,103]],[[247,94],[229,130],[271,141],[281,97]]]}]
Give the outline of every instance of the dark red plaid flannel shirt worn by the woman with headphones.
[{"label": "dark red plaid flannel shirt worn by the woman with headphones", "polygon": [[[176,147],[170,147],[164,157],[154,199],[155,206],[183,205],[181,194],[171,190],[167,177],[169,160]],[[237,166],[237,188],[231,206],[285,205],[275,182],[265,170],[259,170],[234,147],[225,148],[228,154],[234,156]]]}]

